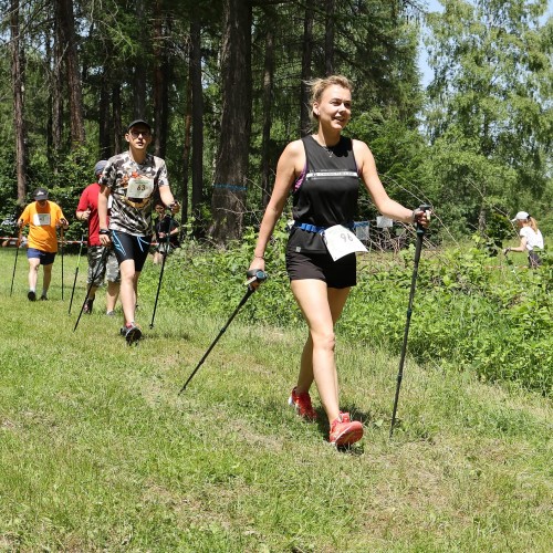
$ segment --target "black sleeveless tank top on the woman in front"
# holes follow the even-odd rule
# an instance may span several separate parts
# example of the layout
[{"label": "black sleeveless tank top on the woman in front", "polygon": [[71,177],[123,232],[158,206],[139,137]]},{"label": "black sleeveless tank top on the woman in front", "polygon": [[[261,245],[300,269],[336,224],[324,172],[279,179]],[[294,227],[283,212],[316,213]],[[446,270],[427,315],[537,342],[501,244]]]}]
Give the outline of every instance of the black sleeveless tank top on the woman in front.
[{"label": "black sleeveless tank top on the woman in front", "polygon": [[357,164],[351,138],[341,137],[331,148],[321,146],[313,136],[302,138],[305,169],[294,182],[292,229],[289,250],[326,252],[319,232],[303,230],[298,225],[319,228],[353,225],[359,195]]}]

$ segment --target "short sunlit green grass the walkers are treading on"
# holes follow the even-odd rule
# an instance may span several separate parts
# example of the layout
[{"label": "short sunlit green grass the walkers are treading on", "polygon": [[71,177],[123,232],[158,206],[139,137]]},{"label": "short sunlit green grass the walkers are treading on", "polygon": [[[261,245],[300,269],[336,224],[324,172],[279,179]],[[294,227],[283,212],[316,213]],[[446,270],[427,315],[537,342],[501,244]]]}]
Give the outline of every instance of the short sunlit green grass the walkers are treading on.
[{"label": "short sunlit green grass the walkers are treading on", "polygon": [[84,260],[70,316],[76,257],[65,301],[59,258],[50,302],[30,303],[24,255],[9,295],[13,255],[0,252],[0,551],[551,551],[550,400],[408,358],[389,440],[398,358],[338,335],[342,408],[365,437],[336,451],[322,411],[306,424],[286,407],[303,332],[238,315],[179,396],[234,304],[212,319],[164,306],[163,290],[149,330],[143,293],[145,338],[127,347],[103,294],[73,332]]}]

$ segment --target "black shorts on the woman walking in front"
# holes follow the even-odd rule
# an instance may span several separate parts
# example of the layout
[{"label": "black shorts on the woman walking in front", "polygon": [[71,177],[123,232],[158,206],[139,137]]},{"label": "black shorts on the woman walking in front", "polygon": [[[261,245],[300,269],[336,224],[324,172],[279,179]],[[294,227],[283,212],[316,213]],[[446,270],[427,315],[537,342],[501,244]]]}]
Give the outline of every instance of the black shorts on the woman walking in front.
[{"label": "black shorts on the woman walking in front", "polygon": [[286,251],[290,280],[316,279],[328,288],[349,288],[357,284],[357,258],[349,253],[333,261],[330,253]]}]

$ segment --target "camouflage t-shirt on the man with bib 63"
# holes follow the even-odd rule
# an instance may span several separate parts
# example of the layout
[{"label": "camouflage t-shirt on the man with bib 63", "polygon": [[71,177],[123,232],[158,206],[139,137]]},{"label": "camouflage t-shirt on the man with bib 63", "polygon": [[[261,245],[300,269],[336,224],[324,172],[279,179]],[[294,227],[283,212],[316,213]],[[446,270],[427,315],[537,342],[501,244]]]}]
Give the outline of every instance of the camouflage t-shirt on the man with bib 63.
[{"label": "camouflage t-shirt on the man with bib 63", "polygon": [[150,236],[154,199],[169,186],[165,161],[152,154],[137,164],[128,152],[107,160],[98,182],[109,188],[109,229],[133,236]]}]

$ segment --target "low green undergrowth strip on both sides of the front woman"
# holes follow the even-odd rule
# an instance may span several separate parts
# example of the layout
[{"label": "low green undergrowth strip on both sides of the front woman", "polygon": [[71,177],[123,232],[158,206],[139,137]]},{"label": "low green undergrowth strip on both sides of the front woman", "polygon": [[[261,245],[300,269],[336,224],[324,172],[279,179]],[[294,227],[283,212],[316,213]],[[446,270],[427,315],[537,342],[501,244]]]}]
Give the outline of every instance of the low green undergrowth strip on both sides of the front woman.
[{"label": "low green undergrowth strip on both sides of the front woman", "polygon": [[[284,271],[285,240],[281,225],[267,253],[269,280],[244,305],[242,316],[255,324],[299,325],[303,333],[301,312]],[[246,292],[242,283],[253,246],[251,229],[243,243],[219,252],[187,243],[170,258],[176,267],[167,273],[164,284],[174,292],[167,301],[175,307],[186,302],[189,309],[209,315],[230,315]],[[337,332],[345,340],[385,344],[399,353],[414,247],[401,251],[400,263],[386,263],[388,255],[359,258],[358,284]],[[551,395],[553,263],[547,252],[543,260],[536,271],[521,270],[511,258],[492,260],[478,244],[424,255],[409,355],[429,366],[474,372],[483,380],[518,383]],[[148,293],[153,294],[157,281],[152,275],[149,279]]]}]

